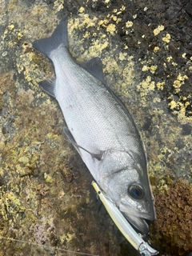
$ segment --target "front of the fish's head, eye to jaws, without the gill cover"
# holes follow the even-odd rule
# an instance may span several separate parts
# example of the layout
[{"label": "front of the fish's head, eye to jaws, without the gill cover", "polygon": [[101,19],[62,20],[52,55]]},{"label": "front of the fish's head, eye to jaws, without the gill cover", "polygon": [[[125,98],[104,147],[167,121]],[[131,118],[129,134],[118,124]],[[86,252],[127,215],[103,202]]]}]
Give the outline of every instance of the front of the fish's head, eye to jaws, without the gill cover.
[{"label": "front of the fish's head, eye to jaws, without the gill cover", "polygon": [[141,182],[137,170],[122,170],[111,177],[107,194],[140,233],[149,233],[146,220],[154,221],[154,198],[149,183]]}]

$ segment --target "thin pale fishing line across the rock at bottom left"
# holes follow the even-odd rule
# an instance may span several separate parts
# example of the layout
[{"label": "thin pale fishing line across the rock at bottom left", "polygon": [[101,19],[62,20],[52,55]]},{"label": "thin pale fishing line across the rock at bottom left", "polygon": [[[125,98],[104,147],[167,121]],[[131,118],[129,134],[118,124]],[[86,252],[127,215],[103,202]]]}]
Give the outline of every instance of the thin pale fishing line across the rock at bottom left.
[{"label": "thin pale fishing line across the rock at bottom left", "polygon": [[45,246],[45,245],[42,245],[40,243],[27,242],[27,241],[24,241],[24,240],[18,240],[18,239],[14,239],[14,238],[6,238],[6,237],[1,237],[0,236],[0,239],[10,240],[10,241],[14,241],[14,242],[28,243],[29,245],[42,246],[44,248],[48,248],[48,249],[52,249],[52,250],[60,250],[60,251],[66,252],[66,253],[81,254],[81,255],[88,255],[88,256],[99,256],[99,255],[96,255],[96,254],[86,254],[86,253],[80,253],[78,251],[73,251],[73,250],[65,250],[65,249],[62,249],[62,248],[54,247],[54,246]]}]

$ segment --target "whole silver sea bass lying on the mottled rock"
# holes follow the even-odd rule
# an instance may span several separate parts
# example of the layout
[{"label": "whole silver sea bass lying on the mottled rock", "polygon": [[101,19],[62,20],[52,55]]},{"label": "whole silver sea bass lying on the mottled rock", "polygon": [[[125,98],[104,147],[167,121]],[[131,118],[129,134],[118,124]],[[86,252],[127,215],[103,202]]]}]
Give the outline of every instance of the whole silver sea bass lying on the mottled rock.
[{"label": "whole silver sea bass lying on the mottled rock", "polygon": [[54,63],[55,78],[40,82],[57,99],[64,132],[95,181],[142,234],[155,218],[146,151],[126,107],[106,86],[100,58],[76,62],[69,51],[67,18],[50,38],[33,42]]}]

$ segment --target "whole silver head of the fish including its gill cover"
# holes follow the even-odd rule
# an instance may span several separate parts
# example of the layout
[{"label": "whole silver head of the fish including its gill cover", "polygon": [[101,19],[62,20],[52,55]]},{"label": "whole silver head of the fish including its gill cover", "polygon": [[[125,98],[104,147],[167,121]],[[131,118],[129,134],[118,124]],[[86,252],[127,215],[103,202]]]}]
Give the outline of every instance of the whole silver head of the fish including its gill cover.
[{"label": "whole silver head of the fish including its gill cover", "polygon": [[[110,161],[113,160],[114,158],[110,158]],[[114,163],[112,166],[113,169],[108,169],[102,176],[101,186],[103,185],[106,195],[117,204],[130,224],[141,234],[148,234],[147,221],[154,221],[155,210],[146,169],[139,163],[127,166],[123,158],[118,161],[118,165]]]}]

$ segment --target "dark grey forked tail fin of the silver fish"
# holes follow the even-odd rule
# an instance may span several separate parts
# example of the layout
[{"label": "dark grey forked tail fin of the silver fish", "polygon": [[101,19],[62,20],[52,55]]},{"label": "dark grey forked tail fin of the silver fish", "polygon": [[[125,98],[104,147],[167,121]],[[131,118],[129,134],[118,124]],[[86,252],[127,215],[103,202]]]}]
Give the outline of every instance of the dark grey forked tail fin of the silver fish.
[{"label": "dark grey forked tail fin of the silver fish", "polygon": [[68,46],[67,18],[62,19],[50,38],[43,38],[33,42],[34,48],[48,58],[50,58],[51,51],[57,49],[61,44]]}]

